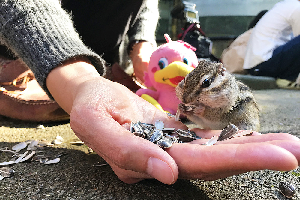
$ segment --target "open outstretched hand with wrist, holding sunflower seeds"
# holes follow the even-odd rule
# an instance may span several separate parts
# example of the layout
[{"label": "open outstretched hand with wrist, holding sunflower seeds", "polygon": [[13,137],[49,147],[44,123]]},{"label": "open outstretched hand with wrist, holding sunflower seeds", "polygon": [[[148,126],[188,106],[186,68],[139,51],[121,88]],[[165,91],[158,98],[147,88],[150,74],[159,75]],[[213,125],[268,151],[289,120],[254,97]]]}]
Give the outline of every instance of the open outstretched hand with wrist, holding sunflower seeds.
[{"label": "open outstretched hand with wrist, holding sunflower seeds", "polygon": [[[207,140],[200,139],[163,150],[134,136],[129,131],[130,123],[154,123],[160,119],[166,127],[187,127],[168,119],[125,86],[95,75],[89,64],[81,65],[75,62],[53,70],[47,87],[70,113],[71,127],[79,139],[103,157],[126,183],[155,178],[173,184],[178,177],[211,180],[253,170],[291,170],[298,166],[299,139],[286,133],[254,133],[213,146],[199,145]],[[208,139],[220,133],[195,131]]]}]

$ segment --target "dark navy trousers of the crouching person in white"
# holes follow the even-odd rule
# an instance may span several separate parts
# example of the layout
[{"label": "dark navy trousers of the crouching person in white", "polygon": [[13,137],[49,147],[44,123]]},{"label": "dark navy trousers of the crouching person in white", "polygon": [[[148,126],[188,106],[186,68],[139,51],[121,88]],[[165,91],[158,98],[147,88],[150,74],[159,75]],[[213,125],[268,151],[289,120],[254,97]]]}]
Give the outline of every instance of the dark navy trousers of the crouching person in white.
[{"label": "dark navy trousers of the crouching person in white", "polygon": [[256,76],[296,79],[300,73],[300,35],[277,47],[272,58],[249,69],[248,72]]}]

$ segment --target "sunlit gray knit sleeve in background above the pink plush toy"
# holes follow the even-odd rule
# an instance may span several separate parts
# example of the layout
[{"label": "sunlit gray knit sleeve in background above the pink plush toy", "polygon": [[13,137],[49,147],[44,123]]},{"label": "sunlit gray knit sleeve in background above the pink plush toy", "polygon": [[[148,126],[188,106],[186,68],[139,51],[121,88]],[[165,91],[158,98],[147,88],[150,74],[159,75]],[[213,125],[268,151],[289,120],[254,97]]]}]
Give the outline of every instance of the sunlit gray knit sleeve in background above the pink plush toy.
[{"label": "sunlit gray knit sleeve in background above the pink plush toy", "polygon": [[129,44],[135,40],[146,40],[156,47],[155,31],[158,19],[158,0],[147,0],[137,21],[128,31]]}]

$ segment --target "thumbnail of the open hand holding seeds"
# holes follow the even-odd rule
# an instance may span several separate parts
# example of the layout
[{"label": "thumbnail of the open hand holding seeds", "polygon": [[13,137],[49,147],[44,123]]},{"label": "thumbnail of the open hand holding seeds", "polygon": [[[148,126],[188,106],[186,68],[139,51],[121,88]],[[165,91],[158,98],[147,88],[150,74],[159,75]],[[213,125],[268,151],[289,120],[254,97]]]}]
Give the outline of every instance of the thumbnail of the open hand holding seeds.
[{"label": "thumbnail of the open hand holding seeds", "polygon": [[149,158],[146,172],[164,184],[172,184],[174,181],[174,174],[170,166],[158,158]]}]

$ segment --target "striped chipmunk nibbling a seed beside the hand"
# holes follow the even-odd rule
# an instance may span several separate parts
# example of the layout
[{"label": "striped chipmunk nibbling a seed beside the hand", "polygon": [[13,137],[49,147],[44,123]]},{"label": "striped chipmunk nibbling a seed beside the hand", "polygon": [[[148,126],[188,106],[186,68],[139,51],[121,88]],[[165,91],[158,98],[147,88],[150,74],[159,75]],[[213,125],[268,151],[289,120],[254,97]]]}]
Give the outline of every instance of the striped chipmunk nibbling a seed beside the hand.
[{"label": "striped chipmunk nibbling a seed beside the hand", "polygon": [[259,110],[250,88],[226,72],[223,64],[200,61],[177,85],[180,113],[201,128],[258,130]]}]

